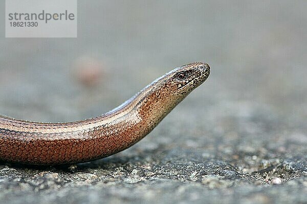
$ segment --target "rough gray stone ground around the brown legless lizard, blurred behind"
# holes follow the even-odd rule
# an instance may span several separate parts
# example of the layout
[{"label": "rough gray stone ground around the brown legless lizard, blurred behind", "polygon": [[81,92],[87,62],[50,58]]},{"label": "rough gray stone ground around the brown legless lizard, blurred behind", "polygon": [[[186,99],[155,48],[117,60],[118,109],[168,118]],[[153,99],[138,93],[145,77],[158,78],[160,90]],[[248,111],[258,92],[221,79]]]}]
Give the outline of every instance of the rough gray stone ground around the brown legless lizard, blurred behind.
[{"label": "rough gray stone ground around the brown legless lizard, blurred behind", "polygon": [[306,7],[79,1],[75,39],[4,38],[0,23],[0,113],[15,118],[93,117],[173,67],[212,67],[152,133],[117,155],[53,167],[1,162],[1,202],[307,202]]}]

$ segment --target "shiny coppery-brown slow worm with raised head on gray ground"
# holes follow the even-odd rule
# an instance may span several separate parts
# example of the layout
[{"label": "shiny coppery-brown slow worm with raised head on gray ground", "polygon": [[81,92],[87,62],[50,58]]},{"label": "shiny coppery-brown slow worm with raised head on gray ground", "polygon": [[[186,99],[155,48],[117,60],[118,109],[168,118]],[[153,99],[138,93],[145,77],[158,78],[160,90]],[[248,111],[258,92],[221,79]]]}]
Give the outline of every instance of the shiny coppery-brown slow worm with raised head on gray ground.
[{"label": "shiny coppery-brown slow worm with raised head on gray ground", "polygon": [[209,73],[203,62],[178,67],[118,108],[82,121],[38,123],[0,116],[0,160],[53,165],[113,155],[145,137]]}]

